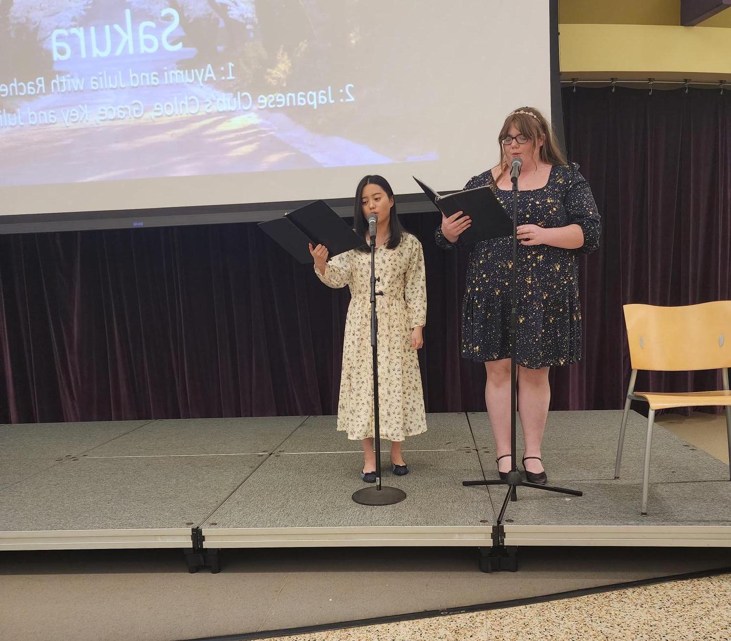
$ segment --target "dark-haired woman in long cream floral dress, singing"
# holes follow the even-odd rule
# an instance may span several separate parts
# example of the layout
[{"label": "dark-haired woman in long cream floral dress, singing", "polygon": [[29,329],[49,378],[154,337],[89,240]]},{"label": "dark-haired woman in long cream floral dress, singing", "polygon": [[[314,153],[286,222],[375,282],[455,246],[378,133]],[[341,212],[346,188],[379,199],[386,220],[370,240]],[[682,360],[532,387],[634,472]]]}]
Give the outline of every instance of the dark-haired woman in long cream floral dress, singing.
[{"label": "dark-haired woman in long cream floral dress, singing", "polygon": [[[378,314],[379,430],[391,442],[393,473],[409,473],[401,456],[406,436],[426,431],[424,396],[417,349],[426,322],[426,279],[421,243],[406,232],[385,178],[360,181],[355,199],[355,231],[368,242],[370,213],[378,216],[376,231],[376,297]],[[371,251],[352,249],[327,261],[327,248],[313,247],[317,277],[328,287],[350,288],[345,321],[343,367],[338,402],[338,431],[360,440],[365,457],[361,477],[376,481],[374,454],[373,352],[371,348]]]}]

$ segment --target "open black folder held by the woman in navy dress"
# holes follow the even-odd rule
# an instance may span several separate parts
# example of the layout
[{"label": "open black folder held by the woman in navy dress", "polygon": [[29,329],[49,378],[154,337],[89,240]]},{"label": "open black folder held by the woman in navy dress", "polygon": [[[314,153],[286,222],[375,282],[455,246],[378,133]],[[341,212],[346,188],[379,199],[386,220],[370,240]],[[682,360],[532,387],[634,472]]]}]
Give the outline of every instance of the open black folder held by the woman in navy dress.
[{"label": "open black folder held by the woman in navy dress", "polygon": [[463,243],[479,243],[481,240],[512,236],[512,218],[490,187],[465,189],[441,196],[415,176],[414,181],[417,181],[429,200],[444,216],[452,216],[458,211],[463,211],[465,215],[469,214],[472,222],[460,235]]}]

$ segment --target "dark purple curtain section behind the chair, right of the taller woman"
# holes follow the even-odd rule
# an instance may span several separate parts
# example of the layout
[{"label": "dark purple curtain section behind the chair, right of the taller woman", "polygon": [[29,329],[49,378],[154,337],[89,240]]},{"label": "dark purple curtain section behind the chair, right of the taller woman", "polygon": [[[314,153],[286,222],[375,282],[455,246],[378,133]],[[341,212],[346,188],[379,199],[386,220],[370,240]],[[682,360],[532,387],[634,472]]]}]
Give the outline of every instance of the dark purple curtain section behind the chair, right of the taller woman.
[{"label": "dark purple curtain section behind the chair, right of the taller woman", "polygon": [[[624,303],[731,298],[731,93],[562,93],[569,158],[591,184],[603,224],[601,249],[580,275],[583,362],[555,373],[553,406],[618,408],[629,384]],[[635,387],[720,388],[713,371],[640,372]]]}]

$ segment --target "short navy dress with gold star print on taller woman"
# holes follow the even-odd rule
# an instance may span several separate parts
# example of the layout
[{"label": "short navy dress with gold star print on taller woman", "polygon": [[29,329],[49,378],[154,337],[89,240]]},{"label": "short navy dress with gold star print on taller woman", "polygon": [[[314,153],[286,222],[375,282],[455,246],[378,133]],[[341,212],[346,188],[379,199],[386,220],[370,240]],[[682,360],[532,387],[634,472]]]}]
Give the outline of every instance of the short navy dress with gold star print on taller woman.
[{"label": "short navy dress with gold star print on taller woman", "polygon": [[[465,189],[488,185],[512,218],[512,193],[499,189],[491,171],[474,176]],[[577,254],[599,246],[600,222],[594,196],[578,165],[553,165],[542,189],[518,192],[518,225],[566,227],[578,224],[579,249],[518,243],[518,338],[516,363],[539,369],[581,358],[581,304]],[[436,243],[450,243],[436,229]],[[512,238],[476,243],[469,257],[462,306],[462,356],[480,362],[510,358]]]}]

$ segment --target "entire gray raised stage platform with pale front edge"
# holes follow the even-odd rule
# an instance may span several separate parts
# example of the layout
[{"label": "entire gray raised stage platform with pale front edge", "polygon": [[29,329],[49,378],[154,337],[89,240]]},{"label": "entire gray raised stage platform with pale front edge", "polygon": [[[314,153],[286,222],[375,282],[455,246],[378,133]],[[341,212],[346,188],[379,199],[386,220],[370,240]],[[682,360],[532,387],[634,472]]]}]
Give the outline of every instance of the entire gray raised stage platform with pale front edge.
[{"label": "entire gray raised stage platform with pale front edge", "polygon": [[[550,483],[584,496],[518,490],[506,542],[731,545],[728,466],[656,428],[641,517],[645,419],[630,416],[615,480],[620,419],[619,411],[551,412]],[[390,507],[351,500],[363,487],[360,443],[335,425],[335,417],[2,425],[0,549],[185,547],[196,527],[207,547],[488,544],[505,490],[461,485],[497,476],[487,414],[428,416],[427,433],[406,441],[406,477],[388,471],[385,442],[384,485],[407,494]]]}]

